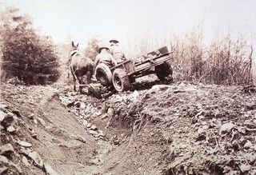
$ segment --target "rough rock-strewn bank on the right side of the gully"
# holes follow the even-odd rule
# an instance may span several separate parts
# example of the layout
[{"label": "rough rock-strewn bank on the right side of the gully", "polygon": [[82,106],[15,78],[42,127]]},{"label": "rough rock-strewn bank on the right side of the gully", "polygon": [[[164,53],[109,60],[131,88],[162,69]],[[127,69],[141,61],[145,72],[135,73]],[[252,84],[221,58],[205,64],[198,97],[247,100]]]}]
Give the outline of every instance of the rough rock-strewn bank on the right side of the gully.
[{"label": "rough rock-strewn bank on the right side of the gully", "polygon": [[[166,123],[162,135],[172,142],[166,173],[256,174],[255,93],[186,83],[155,89],[142,113]],[[153,100],[159,98],[166,100]]]}]

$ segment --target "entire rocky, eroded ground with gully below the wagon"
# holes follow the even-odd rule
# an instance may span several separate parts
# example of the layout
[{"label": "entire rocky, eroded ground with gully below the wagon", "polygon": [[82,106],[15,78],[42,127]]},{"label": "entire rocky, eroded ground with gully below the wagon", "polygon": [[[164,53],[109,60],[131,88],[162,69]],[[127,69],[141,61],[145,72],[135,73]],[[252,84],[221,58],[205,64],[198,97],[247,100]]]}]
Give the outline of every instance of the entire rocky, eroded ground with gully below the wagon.
[{"label": "entire rocky, eroded ground with gully below the wagon", "polygon": [[255,86],[71,89],[1,86],[2,174],[256,173]]}]

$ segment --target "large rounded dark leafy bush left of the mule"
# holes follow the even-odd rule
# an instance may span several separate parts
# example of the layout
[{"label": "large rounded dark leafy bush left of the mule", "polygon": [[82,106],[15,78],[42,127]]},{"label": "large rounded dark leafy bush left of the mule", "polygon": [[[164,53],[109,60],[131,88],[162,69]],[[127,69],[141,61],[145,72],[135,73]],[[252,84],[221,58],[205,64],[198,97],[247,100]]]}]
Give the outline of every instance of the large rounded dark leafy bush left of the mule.
[{"label": "large rounded dark leafy bush left of the mule", "polygon": [[28,85],[46,85],[59,77],[58,57],[50,37],[39,36],[32,21],[18,9],[1,13],[2,70],[7,78],[18,78]]}]

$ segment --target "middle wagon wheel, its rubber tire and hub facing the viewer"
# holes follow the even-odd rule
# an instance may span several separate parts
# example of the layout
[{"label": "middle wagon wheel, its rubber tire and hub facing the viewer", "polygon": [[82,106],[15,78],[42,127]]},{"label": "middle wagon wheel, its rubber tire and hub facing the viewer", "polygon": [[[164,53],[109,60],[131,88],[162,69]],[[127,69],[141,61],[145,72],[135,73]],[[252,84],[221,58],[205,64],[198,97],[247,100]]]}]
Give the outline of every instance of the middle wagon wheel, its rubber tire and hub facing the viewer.
[{"label": "middle wagon wheel, its rubber tire and hub facing the viewer", "polygon": [[114,89],[118,92],[123,92],[127,89],[130,89],[130,81],[128,76],[126,76],[125,70],[122,70],[120,68],[114,70],[113,76],[112,76],[112,82]]}]

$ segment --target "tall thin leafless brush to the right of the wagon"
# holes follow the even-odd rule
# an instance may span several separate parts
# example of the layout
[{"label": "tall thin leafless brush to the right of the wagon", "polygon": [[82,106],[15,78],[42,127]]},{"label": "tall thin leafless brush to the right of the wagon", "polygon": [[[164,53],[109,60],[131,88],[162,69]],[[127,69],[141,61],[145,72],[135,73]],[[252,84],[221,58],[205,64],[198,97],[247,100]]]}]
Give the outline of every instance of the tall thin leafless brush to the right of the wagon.
[{"label": "tall thin leafless brush to the right of the wagon", "polygon": [[217,38],[210,46],[202,44],[202,34],[191,33],[171,42],[174,50],[174,78],[218,85],[249,84],[252,79],[252,45],[238,36],[236,40]]}]

